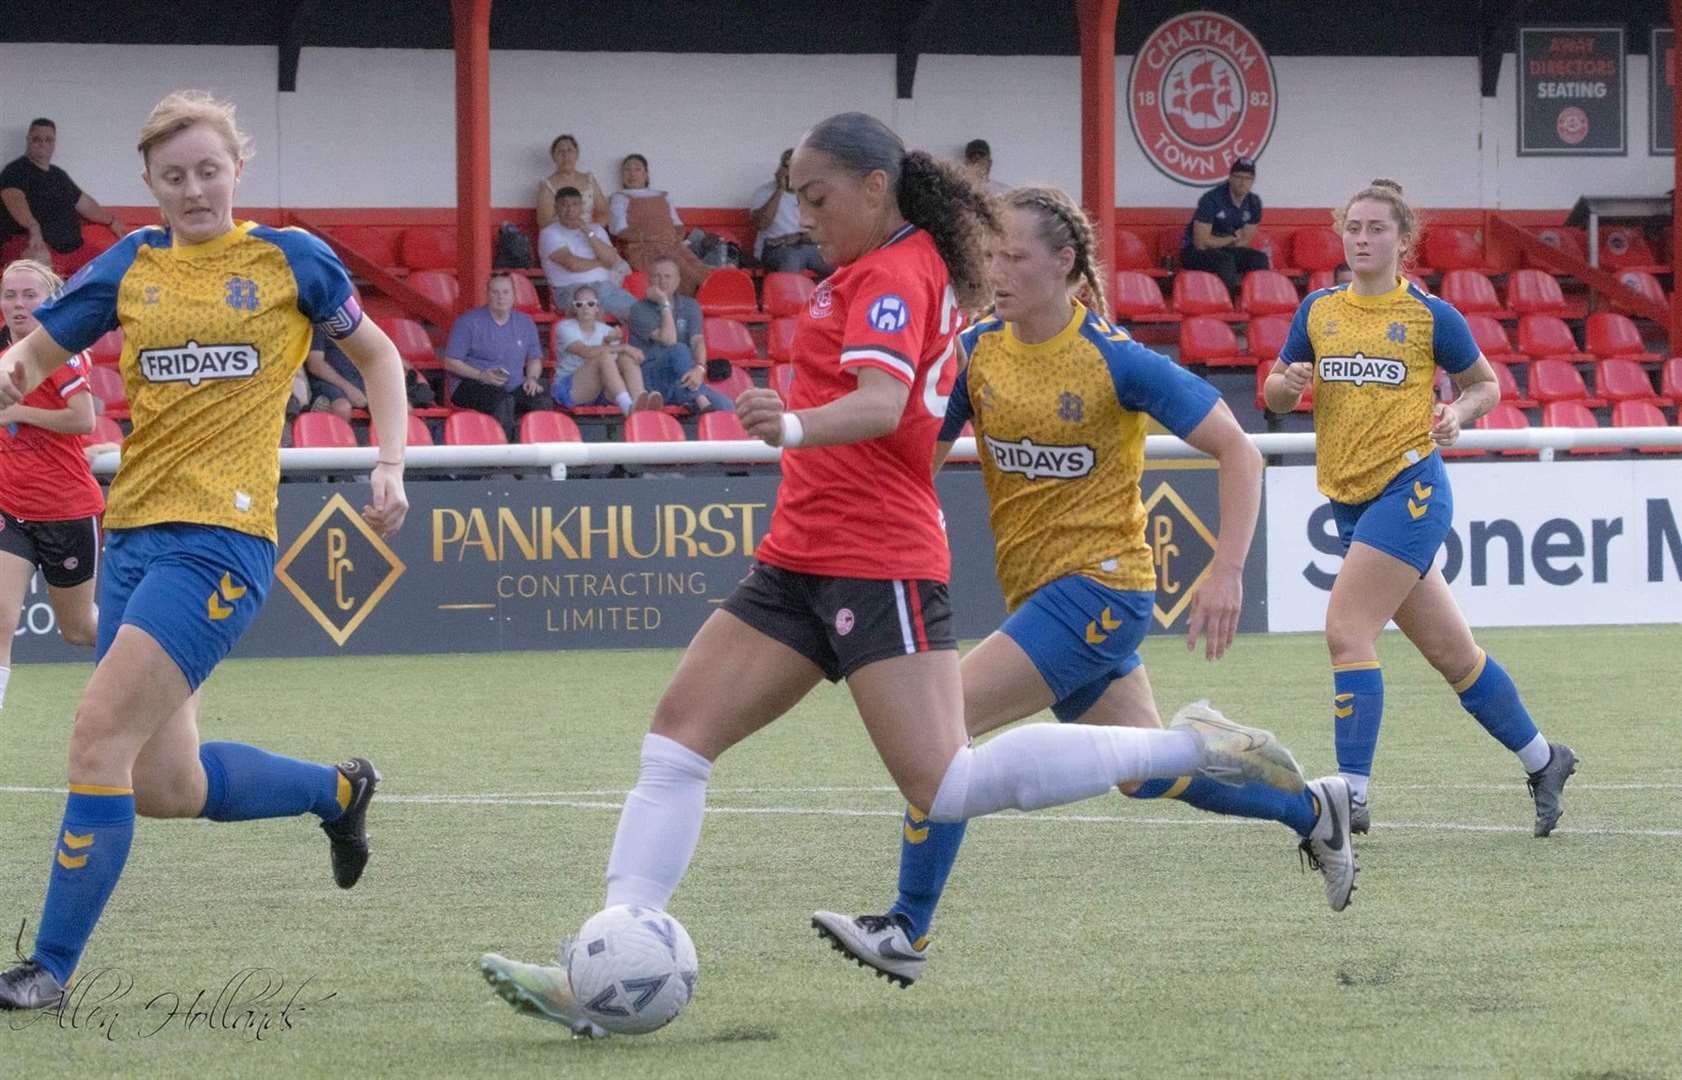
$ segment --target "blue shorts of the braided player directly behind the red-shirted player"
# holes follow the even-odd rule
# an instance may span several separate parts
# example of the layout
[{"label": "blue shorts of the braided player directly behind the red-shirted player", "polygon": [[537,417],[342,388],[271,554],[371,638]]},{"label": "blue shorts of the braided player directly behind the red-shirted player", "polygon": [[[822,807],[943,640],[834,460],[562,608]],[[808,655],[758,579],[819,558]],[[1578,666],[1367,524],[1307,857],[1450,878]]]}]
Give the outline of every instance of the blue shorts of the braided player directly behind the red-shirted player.
[{"label": "blue shorts of the braided player directly behind the red-shirted player", "polygon": [[1154,592],[1107,589],[1071,574],[1041,585],[999,629],[1023,646],[1056,695],[1051,713],[1078,720],[1140,663]]}]

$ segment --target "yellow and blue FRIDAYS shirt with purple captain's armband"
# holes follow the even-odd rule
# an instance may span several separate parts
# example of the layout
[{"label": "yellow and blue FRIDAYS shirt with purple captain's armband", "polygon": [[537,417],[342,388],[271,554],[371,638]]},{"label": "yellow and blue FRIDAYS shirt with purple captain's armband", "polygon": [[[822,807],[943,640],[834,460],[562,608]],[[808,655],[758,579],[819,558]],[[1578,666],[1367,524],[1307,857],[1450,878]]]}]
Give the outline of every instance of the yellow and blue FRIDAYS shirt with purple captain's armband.
[{"label": "yellow and blue FRIDAYS shirt with purple captain's armband", "polygon": [[343,338],[362,321],[326,244],[254,222],[204,244],[140,229],[35,318],[71,353],[123,328],[135,431],[106,528],[180,521],[276,540],[278,447],[311,325]]}]

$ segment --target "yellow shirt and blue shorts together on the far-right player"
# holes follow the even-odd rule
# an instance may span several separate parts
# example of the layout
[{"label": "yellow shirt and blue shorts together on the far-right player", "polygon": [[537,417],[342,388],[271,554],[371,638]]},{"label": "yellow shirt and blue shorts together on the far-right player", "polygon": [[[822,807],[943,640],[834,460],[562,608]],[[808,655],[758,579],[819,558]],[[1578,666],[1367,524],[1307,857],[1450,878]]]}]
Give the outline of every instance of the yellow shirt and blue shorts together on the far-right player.
[{"label": "yellow shirt and blue shorts together on the far-right player", "polygon": [[1431,569],[1453,521],[1431,442],[1436,368],[1480,355],[1465,316],[1406,279],[1379,296],[1319,289],[1297,308],[1278,358],[1314,363],[1317,481],[1346,552],[1359,540]]}]

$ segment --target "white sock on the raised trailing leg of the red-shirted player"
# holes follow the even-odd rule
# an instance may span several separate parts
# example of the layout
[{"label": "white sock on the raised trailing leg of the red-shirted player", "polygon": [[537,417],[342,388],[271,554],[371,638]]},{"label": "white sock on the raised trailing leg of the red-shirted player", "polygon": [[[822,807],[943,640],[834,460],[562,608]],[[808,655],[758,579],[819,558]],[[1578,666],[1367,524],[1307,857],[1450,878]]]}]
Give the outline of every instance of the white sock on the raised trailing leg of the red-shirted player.
[{"label": "white sock on the raised trailing leg of the red-shirted player", "polygon": [[1189,732],[1031,723],[952,757],[928,816],[965,821],[1001,809],[1041,809],[1102,796],[1117,784],[1198,769]]}]

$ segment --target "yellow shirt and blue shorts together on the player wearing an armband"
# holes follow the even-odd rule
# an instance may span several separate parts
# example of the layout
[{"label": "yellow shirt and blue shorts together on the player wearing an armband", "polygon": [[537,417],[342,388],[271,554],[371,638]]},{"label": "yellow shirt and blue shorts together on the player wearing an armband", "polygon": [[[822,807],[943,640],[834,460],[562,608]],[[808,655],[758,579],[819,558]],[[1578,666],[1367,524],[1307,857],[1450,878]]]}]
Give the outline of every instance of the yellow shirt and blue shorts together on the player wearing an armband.
[{"label": "yellow shirt and blue shorts together on the player wearing an armband", "polygon": [[362,321],[343,264],[299,229],[204,244],[140,229],[35,311],[66,352],[121,326],[133,432],[106,506],[96,661],[128,622],[197,690],[274,577],[281,427],[311,326]]}]

